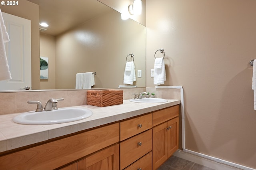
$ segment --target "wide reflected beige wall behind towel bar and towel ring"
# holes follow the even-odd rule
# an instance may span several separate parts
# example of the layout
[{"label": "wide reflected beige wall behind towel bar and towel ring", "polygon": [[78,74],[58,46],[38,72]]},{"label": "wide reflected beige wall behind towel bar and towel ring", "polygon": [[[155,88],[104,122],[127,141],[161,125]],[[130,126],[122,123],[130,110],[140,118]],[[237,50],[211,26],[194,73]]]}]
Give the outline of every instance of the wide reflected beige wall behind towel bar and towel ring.
[{"label": "wide reflected beige wall behind towel bar and towel ring", "polygon": [[133,85],[146,86],[146,28],[121,20],[117,13],[113,10],[56,36],[56,89],[74,89],[76,73],[81,72],[96,72],[93,88],[124,85],[126,56],[131,53],[136,76],[142,70]]}]

